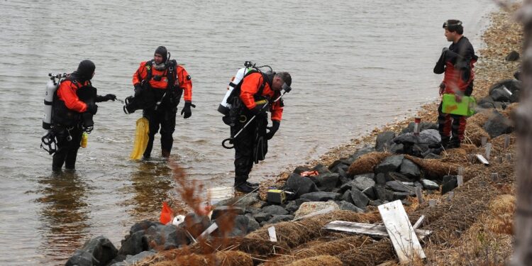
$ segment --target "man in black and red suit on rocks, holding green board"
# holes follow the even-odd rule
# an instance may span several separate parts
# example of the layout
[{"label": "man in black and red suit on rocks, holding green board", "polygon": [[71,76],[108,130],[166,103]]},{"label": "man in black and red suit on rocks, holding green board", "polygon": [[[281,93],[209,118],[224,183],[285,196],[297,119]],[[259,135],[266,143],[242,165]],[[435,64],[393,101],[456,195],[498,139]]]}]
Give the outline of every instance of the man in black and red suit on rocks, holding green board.
[{"label": "man in black and red suit on rocks, holding green board", "polygon": [[[477,55],[470,41],[463,35],[462,21],[450,19],[443,23],[445,38],[453,42],[449,48],[443,48],[440,59],[434,67],[435,74],[443,75],[440,95],[454,94],[457,102],[462,96],[471,96],[473,92],[473,67]],[[458,148],[464,138],[465,116],[443,113],[443,101],[438,107],[438,131],[444,148]]]}]

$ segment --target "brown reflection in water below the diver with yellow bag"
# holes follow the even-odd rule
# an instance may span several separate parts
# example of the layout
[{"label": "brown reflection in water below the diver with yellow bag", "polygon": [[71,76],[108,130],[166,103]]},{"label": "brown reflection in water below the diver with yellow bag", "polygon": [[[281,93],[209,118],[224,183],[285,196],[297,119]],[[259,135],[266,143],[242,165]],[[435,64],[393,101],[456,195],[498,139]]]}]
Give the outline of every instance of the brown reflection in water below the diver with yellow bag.
[{"label": "brown reflection in water below the diver with yellow bag", "polygon": [[147,161],[138,164],[138,170],[131,174],[131,194],[133,197],[126,205],[133,206],[130,214],[137,220],[156,217],[161,202],[167,201],[172,184],[172,170],[166,161]]}]

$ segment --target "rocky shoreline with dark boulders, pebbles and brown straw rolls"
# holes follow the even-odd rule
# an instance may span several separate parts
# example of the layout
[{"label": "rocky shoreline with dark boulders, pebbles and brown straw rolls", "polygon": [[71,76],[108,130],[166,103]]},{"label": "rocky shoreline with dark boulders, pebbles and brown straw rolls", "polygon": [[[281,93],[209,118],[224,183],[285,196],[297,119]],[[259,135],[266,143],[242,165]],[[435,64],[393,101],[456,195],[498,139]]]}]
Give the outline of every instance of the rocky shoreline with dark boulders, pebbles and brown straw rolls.
[{"label": "rocky shoreline with dark boulders, pebbles and brown straw rolls", "polygon": [[[295,259],[279,259],[277,254],[293,255],[291,250],[297,250],[299,245],[320,235],[331,234],[320,230],[328,221],[377,223],[379,216],[375,211],[376,206],[394,200],[401,200],[411,220],[414,220],[427,207],[416,200],[416,190],[421,190],[426,199],[441,199],[454,190],[457,194],[462,193],[460,187],[457,189],[458,167],[464,167],[465,173],[460,173],[463,182],[481,178],[475,174],[482,172],[477,168],[485,166],[468,155],[484,154],[483,138],[486,143],[493,145],[490,162],[500,161],[500,165],[494,165],[492,170],[513,165],[514,162],[509,158],[514,156],[515,138],[511,134],[513,126],[510,116],[519,101],[521,82],[512,77],[519,70],[519,60],[505,60],[505,57],[512,50],[520,49],[522,31],[515,23],[508,21],[509,13],[515,10],[516,6],[512,6],[494,13],[492,26],[484,33],[487,48],[481,51],[482,60],[477,64],[473,93],[478,109],[477,114],[467,121],[466,143],[461,148],[444,150],[437,147],[440,141],[437,125],[428,121],[436,120],[439,102],[426,104],[418,114],[422,121],[419,135],[414,134],[414,118],[376,128],[370,135],[334,148],[319,161],[282,173],[276,180],[262,182],[259,192],[218,202],[210,217],[206,212],[193,208],[196,211],[187,214],[184,223],[179,226],[162,225],[155,221],[136,223],[122,240],[119,250],[103,236],[87,240],[84,247],[70,257],[67,265],[121,266],[137,262],[141,262],[140,265],[194,265],[192,262],[196,260],[197,265],[210,265],[219,262],[220,256],[227,260],[226,265],[296,263]],[[515,59],[515,54],[513,56]],[[505,139],[509,143],[505,143]],[[502,170],[500,172],[502,177]],[[502,178],[513,184],[512,173]],[[292,193],[287,194],[285,203],[275,204],[267,199],[269,189]],[[465,195],[465,192],[462,194]],[[197,200],[200,199],[194,199]],[[472,204],[475,208],[482,206]],[[318,212],[319,215],[309,216],[323,210],[329,213]],[[439,218],[429,213],[426,213],[428,227],[431,221]],[[465,220],[469,218],[465,217]],[[199,238],[214,223],[218,229],[209,237]],[[275,244],[267,238],[267,227],[270,225],[278,230],[279,242]],[[358,243],[358,238],[354,238],[342,235],[334,239]],[[365,247],[364,253],[372,254],[373,245],[374,250],[386,254],[379,259],[373,256],[372,262],[376,264],[393,260],[389,242],[369,242],[371,244]],[[355,261],[358,261],[348,253],[342,253],[356,253],[353,250],[345,248],[338,251],[320,253],[325,258],[316,259],[316,265],[324,265],[324,261],[338,261],[340,265],[342,262],[356,264]],[[204,263],[201,264],[201,261]],[[309,265],[309,262],[305,264]]]}]

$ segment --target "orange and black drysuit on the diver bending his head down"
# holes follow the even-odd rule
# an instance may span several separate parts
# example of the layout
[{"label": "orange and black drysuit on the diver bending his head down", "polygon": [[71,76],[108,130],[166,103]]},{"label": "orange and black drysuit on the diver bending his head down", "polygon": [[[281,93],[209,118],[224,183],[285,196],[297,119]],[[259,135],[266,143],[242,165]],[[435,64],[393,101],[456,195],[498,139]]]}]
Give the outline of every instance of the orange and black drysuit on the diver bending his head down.
[{"label": "orange and black drysuit on the diver bending his head down", "polygon": [[[233,140],[235,147],[235,186],[248,180],[253,162],[264,160],[267,153],[267,113],[270,111],[274,127],[279,128],[282,119],[282,100],[275,101],[281,94],[271,89],[273,75],[251,72],[240,85],[239,98],[243,103],[241,118],[231,126],[231,136],[256,115],[255,119]],[[258,111],[267,100],[269,106]],[[275,101],[275,102],[273,102]],[[257,105],[257,103],[261,103]],[[275,131],[277,131],[277,128]],[[271,132],[271,130],[270,130]],[[271,138],[271,137],[270,137]]]}]

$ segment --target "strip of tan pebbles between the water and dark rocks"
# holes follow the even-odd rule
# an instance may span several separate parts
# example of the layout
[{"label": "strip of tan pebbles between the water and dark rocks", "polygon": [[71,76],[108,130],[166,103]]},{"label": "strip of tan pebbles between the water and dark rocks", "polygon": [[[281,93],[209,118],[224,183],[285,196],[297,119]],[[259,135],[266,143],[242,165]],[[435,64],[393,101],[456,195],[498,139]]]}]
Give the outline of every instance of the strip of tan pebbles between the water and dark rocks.
[{"label": "strip of tan pebbles between the water and dark rocks", "polygon": [[[501,13],[505,12],[506,11],[501,9],[499,11],[495,11],[495,13],[491,13],[489,15],[489,18],[492,23],[489,28],[487,28],[486,31],[482,33],[482,39],[484,39],[486,48],[477,51],[477,53],[480,53],[480,56],[485,57],[486,60],[478,62],[477,66],[475,66],[475,89],[473,91],[473,96],[476,96],[479,99],[480,96],[487,95],[489,87],[491,87],[492,84],[494,84],[495,82],[498,82],[502,79],[511,78],[511,74],[513,74],[511,70],[516,70],[517,65],[519,65],[519,62],[504,62],[504,60],[501,60],[501,58],[504,59],[504,56],[506,56],[506,54],[512,50],[511,48],[509,48],[509,46],[511,45],[504,45],[505,43],[501,42],[501,46],[504,46],[504,48],[499,47],[498,45],[496,45],[497,38],[495,38],[495,34],[492,33],[492,31],[495,31],[494,29],[500,29],[500,27],[502,27],[501,25],[504,24],[504,21],[498,20],[504,18]],[[501,62],[504,63],[501,64]],[[439,99],[433,102],[429,102],[427,104],[423,104],[419,107],[417,111],[417,116],[421,117],[422,121],[435,121],[437,118],[438,104]],[[335,160],[340,160],[342,158],[353,155],[356,150],[362,148],[364,145],[375,144],[375,138],[378,133],[382,133],[384,131],[399,132],[402,128],[406,127],[408,123],[412,121],[414,121],[414,118],[408,117],[402,119],[401,121],[387,123],[381,126],[380,128],[374,128],[371,133],[368,133],[367,135],[362,135],[360,138],[351,139],[348,143],[331,148],[328,152],[321,155],[318,160],[311,160],[305,165],[331,165],[331,163]],[[284,182],[290,172],[291,171],[289,170],[282,172],[278,174],[275,179],[267,180],[264,183],[267,185],[267,187],[269,187],[268,184]],[[412,207],[412,209],[414,209],[414,207],[417,206],[415,206],[414,204],[414,206]]]}]

